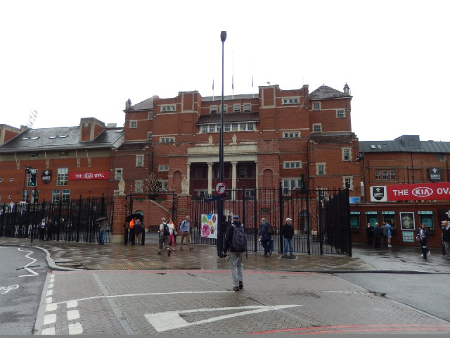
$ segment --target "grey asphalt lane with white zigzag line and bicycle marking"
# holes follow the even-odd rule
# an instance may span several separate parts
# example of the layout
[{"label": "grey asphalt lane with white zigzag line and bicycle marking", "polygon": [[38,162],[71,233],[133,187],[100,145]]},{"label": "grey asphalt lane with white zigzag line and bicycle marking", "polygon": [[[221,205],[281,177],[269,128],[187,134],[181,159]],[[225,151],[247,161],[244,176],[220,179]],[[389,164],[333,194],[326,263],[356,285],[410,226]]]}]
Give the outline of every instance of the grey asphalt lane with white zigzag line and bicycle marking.
[{"label": "grey asphalt lane with white zigzag line and bicycle marking", "polygon": [[0,334],[32,334],[47,263],[40,250],[0,246]]}]

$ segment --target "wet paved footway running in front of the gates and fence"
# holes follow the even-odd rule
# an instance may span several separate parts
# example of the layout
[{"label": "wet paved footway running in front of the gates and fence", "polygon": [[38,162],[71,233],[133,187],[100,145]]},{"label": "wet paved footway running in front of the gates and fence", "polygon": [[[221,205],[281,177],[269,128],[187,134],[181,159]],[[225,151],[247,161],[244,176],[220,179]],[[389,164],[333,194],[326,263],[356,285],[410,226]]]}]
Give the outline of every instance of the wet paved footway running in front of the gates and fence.
[{"label": "wet paved footway running in front of the gates and fence", "polygon": [[[195,249],[179,251],[179,245],[167,256],[158,256],[155,239],[146,245],[94,244],[30,239],[0,238],[0,245],[37,247],[46,252],[52,270],[229,270],[229,263],[217,256],[216,246],[195,244]],[[245,270],[305,271],[321,273],[450,273],[450,261],[442,257],[442,249],[431,249],[425,261],[419,248],[398,246],[374,249],[354,244],[352,257],[340,254],[318,255],[295,253],[283,258],[278,252],[264,257],[262,251],[248,251]]]}]

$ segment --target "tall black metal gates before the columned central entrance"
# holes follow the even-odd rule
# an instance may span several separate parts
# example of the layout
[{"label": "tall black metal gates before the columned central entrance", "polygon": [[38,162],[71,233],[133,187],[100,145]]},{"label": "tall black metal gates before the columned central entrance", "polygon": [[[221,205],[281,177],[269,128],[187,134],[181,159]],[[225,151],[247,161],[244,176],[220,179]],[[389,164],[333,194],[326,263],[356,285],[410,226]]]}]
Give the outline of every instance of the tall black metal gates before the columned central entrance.
[{"label": "tall black metal gates before the columned central entrance", "polygon": [[[192,242],[217,245],[217,239],[202,237],[201,215],[217,213],[217,199],[191,200]],[[295,189],[281,187],[235,189],[224,195],[225,229],[231,217],[239,215],[248,234],[248,250],[261,251],[259,228],[262,218],[275,227],[274,251],[283,252],[279,230],[286,218],[292,218],[295,252],[352,256],[349,225],[348,190]]]}]

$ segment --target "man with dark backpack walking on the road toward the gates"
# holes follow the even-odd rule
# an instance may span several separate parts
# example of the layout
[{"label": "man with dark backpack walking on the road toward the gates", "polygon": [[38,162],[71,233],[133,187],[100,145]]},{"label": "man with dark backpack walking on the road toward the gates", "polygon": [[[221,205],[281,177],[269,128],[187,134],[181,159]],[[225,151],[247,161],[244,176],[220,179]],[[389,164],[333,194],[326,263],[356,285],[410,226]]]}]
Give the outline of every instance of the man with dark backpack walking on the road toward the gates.
[{"label": "man with dark backpack walking on the road toward the gates", "polygon": [[247,251],[247,235],[245,227],[240,223],[239,216],[233,215],[233,223],[226,230],[224,256],[229,251],[231,280],[233,282],[233,291],[237,292],[243,289],[243,272],[242,261],[244,253]]}]

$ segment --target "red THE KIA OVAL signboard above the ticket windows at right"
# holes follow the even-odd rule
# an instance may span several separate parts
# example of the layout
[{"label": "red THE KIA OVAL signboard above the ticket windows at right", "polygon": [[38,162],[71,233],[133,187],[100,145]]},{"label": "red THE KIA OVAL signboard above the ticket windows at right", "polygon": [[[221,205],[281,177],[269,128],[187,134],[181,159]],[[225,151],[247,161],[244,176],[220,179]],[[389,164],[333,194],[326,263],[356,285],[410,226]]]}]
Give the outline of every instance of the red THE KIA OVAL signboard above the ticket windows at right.
[{"label": "red THE KIA OVAL signboard above the ticket windows at right", "polygon": [[387,201],[450,199],[450,182],[387,185],[386,193]]}]

